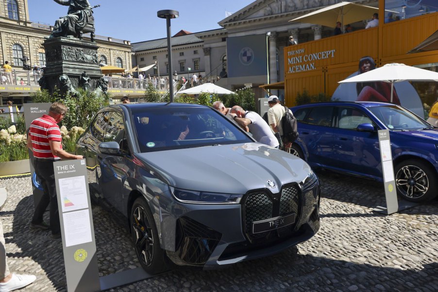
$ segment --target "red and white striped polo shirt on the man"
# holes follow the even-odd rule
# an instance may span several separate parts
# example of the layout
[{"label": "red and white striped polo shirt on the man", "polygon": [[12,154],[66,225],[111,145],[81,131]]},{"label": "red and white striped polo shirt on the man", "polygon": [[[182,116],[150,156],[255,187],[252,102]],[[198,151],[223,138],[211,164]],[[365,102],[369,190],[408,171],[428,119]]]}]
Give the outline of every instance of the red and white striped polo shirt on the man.
[{"label": "red and white striped polo shirt on the man", "polygon": [[29,127],[29,136],[32,139],[34,157],[54,160],[61,159],[51,153],[49,141],[61,142],[61,131],[51,116],[43,115],[41,118],[33,120]]}]

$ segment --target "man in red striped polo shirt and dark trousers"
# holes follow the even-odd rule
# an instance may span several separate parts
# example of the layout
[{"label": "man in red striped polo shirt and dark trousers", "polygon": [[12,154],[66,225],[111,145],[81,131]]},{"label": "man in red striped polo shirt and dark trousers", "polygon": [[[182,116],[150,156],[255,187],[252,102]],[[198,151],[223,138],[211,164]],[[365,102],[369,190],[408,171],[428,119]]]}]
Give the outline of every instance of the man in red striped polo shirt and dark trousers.
[{"label": "man in red striped polo shirt and dark trousers", "polygon": [[35,173],[41,181],[44,194],[35,206],[34,217],[30,228],[48,230],[49,225],[44,223],[43,215],[50,204],[50,229],[52,238],[61,237],[61,226],[58,215],[58,201],[56,195],[55,174],[53,162],[63,159],[82,159],[82,155],[73,155],[62,149],[61,131],[59,123],[67,113],[67,106],[63,103],[52,103],[49,114],[32,121],[29,127],[27,147],[34,154]]}]

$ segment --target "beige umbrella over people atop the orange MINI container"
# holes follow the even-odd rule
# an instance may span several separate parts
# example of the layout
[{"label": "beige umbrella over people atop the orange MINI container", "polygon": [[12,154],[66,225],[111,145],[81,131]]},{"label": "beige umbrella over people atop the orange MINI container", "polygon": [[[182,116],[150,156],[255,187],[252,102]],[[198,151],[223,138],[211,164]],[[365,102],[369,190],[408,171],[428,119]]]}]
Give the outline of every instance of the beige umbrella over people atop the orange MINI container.
[{"label": "beige umbrella over people atop the orange MINI container", "polygon": [[313,23],[334,28],[337,21],[345,25],[369,19],[378,12],[379,8],[343,1],[294,18],[289,22]]}]

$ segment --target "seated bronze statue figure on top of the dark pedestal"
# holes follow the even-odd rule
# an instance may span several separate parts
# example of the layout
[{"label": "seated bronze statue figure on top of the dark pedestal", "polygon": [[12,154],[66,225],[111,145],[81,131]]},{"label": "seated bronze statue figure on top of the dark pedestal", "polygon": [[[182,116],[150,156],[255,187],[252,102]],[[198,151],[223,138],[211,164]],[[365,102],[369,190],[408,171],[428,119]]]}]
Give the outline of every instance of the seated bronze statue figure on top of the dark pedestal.
[{"label": "seated bronze statue figure on top of the dark pedestal", "polygon": [[73,36],[82,38],[82,30],[87,24],[94,26],[93,7],[88,0],[53,0],[61,5],[69,6],[67,16],[55,22],[49,38]]}]

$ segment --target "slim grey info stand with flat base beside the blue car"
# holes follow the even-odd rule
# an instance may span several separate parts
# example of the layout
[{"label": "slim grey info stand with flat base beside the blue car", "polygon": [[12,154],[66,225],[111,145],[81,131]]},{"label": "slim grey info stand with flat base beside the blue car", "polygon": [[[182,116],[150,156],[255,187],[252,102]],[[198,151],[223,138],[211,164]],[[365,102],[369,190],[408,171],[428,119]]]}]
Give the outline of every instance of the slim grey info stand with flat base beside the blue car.
[{"label": "slim grey info stand with flat base beside the blue car", "polygon": [[385,197],[387,206],[377,206],[374,211],[387,215],[416,206],[418,204],[397,200],[397,188],[395,185],[394,167],[392,165],[391,141],[389,130],[379,130],[380,157],[382,162],[383,183],[385,186]]}]

